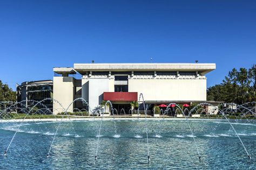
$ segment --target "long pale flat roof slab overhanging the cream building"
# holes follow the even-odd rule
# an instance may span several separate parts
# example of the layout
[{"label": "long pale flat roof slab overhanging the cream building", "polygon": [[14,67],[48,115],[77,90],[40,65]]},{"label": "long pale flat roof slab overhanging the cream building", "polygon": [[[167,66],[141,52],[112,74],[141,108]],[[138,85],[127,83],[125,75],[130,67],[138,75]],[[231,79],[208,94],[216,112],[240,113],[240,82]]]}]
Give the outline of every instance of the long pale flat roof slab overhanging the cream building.
[{"label": "long pale flat roof slab overhanging the cream building", "polygon": [[215,63],[75,63],[78,73],[86,72],[129,72],[129,71],[199,71],[206,74],[216,69]]}]

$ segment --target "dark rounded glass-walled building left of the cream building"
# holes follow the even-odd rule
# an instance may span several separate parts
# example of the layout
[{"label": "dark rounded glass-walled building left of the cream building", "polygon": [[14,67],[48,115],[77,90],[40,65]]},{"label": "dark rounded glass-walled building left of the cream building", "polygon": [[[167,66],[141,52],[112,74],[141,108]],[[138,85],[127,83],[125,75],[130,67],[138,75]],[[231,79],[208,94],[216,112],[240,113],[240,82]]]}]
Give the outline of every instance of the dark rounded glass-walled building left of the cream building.
[{"label": "dark rounded glass-walled building left of the cream building", "polygon": [[[18,112],[26,112],[26,108],[33,107],[37,102],[44,100],[45,98],[53,97],[53,81],[41,80],[41,81],[26,81],[17,84],[17,102]],[[36,105],[35,108],[45,111],[45,114],[52,112],[52,100],[45,100],[42,104]]]}]

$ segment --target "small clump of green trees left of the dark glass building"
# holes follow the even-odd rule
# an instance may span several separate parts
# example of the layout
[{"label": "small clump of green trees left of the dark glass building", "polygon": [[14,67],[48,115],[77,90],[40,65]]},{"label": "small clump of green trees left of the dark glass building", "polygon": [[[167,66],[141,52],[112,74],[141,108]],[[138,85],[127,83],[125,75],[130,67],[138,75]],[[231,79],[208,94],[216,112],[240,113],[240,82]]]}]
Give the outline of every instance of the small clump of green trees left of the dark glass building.
[{"label": "small clump of green trees left of the dark glass building", "polygon": [[0,101],[16,101],[16,92],[0,80]]}]

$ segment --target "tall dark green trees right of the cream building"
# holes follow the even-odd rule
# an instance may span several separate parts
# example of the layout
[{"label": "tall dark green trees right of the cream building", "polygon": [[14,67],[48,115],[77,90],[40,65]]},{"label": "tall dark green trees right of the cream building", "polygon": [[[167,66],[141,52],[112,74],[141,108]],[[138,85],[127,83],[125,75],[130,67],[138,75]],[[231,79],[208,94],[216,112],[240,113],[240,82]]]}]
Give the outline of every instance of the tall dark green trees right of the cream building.
[{"label": "tall dark green trees right of the cream building", "polygon": [[256,101],[256,65],[250,69],[233,68],[225,76],[223,83],[207,89],[207,100],[228,103],[246,103]]}]

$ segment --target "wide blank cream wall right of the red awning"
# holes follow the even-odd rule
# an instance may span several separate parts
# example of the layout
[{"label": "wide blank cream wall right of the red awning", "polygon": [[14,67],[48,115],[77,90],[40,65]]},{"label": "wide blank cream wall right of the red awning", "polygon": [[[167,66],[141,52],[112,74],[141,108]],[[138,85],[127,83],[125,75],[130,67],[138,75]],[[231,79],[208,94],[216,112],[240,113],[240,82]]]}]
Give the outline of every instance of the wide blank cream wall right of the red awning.
[{"label": "wide blank cream wall right of the red awning", "polygon": [[206,101],[206,79],[129,79],[128,86],[146,101]]}]

